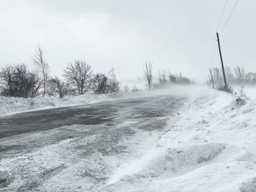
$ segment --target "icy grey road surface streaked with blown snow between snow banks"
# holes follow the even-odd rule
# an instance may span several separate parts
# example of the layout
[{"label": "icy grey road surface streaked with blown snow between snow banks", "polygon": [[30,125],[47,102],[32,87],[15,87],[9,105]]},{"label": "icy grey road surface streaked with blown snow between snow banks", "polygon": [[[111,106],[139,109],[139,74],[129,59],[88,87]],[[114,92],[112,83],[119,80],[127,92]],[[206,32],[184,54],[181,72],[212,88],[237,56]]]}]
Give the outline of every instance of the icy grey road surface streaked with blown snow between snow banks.
[{"label": "icy grey road surface streaked with blown snow between snow banks", "polygon": [[[0,191],[116,191],[186,101],[157,95],[0,118]],[[143,177],[143,176],[142,176]]]}]

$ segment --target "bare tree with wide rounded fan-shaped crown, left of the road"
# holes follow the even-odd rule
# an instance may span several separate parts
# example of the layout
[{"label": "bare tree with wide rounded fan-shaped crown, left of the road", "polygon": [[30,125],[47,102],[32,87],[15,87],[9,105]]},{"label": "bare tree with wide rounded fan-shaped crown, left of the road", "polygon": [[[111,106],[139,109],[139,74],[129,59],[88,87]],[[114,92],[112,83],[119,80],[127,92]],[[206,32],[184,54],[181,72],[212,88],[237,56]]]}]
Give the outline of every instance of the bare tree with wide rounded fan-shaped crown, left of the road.
[{"label": "bare tree with wide rounded fan-shaped crown, left of the road", "polygon": [[75,61],[74,64],[69,64],[65,69],[64,77],[66,77],[67,82],[77,88],[80,95],[91,88],[92,71],[91,66],[86,61]]}]

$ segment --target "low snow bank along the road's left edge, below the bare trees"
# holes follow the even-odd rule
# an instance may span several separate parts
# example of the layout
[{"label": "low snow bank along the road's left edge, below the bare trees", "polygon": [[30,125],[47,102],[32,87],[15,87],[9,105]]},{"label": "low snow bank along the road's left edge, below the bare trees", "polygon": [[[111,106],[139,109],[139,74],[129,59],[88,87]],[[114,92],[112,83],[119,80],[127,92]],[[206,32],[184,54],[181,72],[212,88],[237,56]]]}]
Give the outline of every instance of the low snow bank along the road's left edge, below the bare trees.
[{"label": "low snow bank along the road's left edge, below the bare trees", "polygon": [[[132,87],[131,87],[132,88]],[[139,87],[140,88],[140,87]],[[197,91],[199,88],[197,87]],[[202,88],[200,88],[202,90]],[[128,93],[110,93],[110,94],[94,94],[85,93],[81,96],[66,96],[64,99],[57,97],[37,97],[37,98],[18,98],[0,96],[0,115],[12,114],[16,112],[25,112],[29,110],[43,110],[53,107],[66,107],[80,104],[90,104],[93,102],[106,101],[112,99],[127,99],[135,96],[156,96],[157,94],[172,94],[173,96],[187,96],[192,93],[191,86],[175,86],[167,89],[159,89],[156,91],[139,91]]]}]

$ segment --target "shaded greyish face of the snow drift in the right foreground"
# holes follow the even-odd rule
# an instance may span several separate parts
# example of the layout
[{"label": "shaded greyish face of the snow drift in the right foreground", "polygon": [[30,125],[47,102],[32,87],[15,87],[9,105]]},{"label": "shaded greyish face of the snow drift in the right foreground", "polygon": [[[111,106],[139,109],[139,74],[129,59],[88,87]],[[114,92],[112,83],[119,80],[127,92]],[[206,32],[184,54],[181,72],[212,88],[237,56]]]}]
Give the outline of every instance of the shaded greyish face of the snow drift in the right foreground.
[{"label": "shaded greyish face of the snow drift in the right foreground", "polygon": [[143,177],[170,177],[211,161],[224,149],[225,144],[215,143],[168,148],[166,153],[151,161],[139,174]]}]

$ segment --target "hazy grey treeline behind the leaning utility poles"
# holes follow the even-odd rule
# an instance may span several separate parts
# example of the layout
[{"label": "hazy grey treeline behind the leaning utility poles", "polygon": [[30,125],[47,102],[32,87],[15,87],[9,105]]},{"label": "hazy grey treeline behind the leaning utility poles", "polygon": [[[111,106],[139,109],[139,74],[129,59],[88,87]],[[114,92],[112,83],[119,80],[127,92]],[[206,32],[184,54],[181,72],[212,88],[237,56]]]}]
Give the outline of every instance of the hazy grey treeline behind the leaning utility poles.
[{"label": "hazy grey treeline behind the leaning utility poles", "polygon": [[[223,74],[222,69],[214,67],[211,69],[212,77],[216,87],[223,85]],[[246,72],[244,67],[236,66],[231,69],[229,66],[225,66],[225,75],[227,79],[227,84],[229,85],[241,85],[241,84],[250,84],[256,85],[256,73]],[[211,84],[211,74],[208,77],[208,83]]]}]

